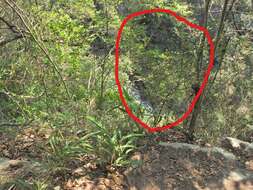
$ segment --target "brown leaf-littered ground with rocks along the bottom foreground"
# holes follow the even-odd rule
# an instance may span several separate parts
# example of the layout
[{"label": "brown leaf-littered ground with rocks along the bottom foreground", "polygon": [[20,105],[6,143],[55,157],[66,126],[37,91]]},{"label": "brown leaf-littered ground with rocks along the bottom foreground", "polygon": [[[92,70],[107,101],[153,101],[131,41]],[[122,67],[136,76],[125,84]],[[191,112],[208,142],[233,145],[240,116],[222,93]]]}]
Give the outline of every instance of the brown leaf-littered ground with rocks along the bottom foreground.
[{"label": "brown leaf-littered ground with rocks along the bottom foreground", "polygon": [[252,157],[186,144],[173,130],[148,137],[131,158],[135,166],[121,169],[101,168],[93,157],[83,157],[57,170],[41,163],[47,157],[45,142],[47,135],[29,129],[15,138],[0,134],[0,189],[11,189],[17,179],[51,181],[48,189],[55,190],[253,189]]}]

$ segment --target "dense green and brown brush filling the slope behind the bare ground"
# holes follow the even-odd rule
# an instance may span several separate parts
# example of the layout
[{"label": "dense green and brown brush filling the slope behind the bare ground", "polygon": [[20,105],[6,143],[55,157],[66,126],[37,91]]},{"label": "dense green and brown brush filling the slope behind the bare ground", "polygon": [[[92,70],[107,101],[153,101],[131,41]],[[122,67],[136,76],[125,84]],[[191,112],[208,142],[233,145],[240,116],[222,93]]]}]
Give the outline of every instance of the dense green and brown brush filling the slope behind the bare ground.
[{"label": "dense green and brown brush filling the slope behind the bare ground", "polygon": [[[175,130],[189,142],[210,144],[252,134],[253,1],[0,0],[0,135],[15,140],[29,130],[43,136],[35,143],[40,157],[28,159],[52,172],[45,183],[85,156],[102,168],[133,164],[129,156],[150,134],[119,99],[115,37],[127,15],[157,7],[206,27],[215,44],[209,83]],[[181,117],[208,60],[203,33],[170,15],[129,21],[119,70],[133,113],[154,127]]]}]

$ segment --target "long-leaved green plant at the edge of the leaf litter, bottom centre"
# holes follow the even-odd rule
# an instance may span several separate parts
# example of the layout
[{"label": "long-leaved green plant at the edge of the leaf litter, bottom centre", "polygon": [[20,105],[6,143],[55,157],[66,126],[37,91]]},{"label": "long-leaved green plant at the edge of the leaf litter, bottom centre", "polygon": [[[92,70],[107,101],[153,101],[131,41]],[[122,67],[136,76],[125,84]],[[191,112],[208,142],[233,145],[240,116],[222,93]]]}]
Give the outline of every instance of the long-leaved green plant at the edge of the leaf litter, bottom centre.
[{"label": "long-leaved green plant at the edge of the leaf litter, bottom centre", "polygon": [[130,163],[129,154],[136,147],[136,140],[142,137],[140,133],[124,134],[120,128],[110,128],[102,125],[95,118],[88,116],[87,119],[94,124],[92,130],[96,132],[93,150],[102,164],[124,166]]}]

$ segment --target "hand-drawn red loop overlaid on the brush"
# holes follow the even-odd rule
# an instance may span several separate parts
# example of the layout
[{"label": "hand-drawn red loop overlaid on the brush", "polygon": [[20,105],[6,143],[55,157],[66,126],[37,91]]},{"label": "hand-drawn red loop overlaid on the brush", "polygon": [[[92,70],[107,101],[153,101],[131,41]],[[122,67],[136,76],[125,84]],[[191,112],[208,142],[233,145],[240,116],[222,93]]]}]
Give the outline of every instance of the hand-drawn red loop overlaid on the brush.
[{"label": "hand-drawn red loop overlaid on the brush", "polygon": [[[120,84],[120,81],[119,81],[119,48],[120,48],[120,39],[121,39],[122,31],[124,29],[124,26],[127,24],[127,22],[129,20],[131,20],[134,17],[140,16],[140,15],[150,14],[150,13],[157,13],[157,12],[170,14],[171,16],[175,17],[177,21],[182,22],[182,23],[190,26],[191,28],[195,28],[199,31],[204,32],[204,35],[207,38],[210,50],[209,50],[209,65],[208,65],[208,68],[205,72],[205,75],[204,75],[203,81],[201,83],[200,89],[199,89],[198,93],[196,94],[196,96],[194,96],[194,98],[193,98],[192,102],[190,103],[187,111],[183,114],[182,117],[180,117],[178,120],[176,120],[173,123],[169,123],[169,124],[161,126],[161,127],[157,126],[157,127],[152,128],[152,127],[148,126],[148,124],[143,122],[140,118],[138,118],[136,115],[133,114],[132,110],[129,108],[129,106],[128,106],[128,104],[127,104],[127,102],[126,102],[126,100],[123,96],[123,91],[122,91],[121,84]],[[132,14],[128,15],[123,20],[123,22],[121,23],[120,28],[118,30],[118,35],[117,35],[116,43],[115,43],[115,81],[116,81],[116,85],[118,86],[119,97],[120,97],[120,100],[121,100],[123,106],[126,109],[126,112],[130,116],[130,118],[132,118],[135,122],[139,123],[143,128],[147,129],[149,132],[163,131],[165,129],[175,127],[175,126],[179,125],[180,123],[182,123],[190,115],[190,113],[192,112],[196,102],[198,101],[200,95],[202,94],[202,92],[203,92],[203,90],[204,90],[204,88],[205,88],[205,86],[208,82],[208,77],[209,77],[210,72],[213,68],[213,64],[214,64],[214,43],[212,41],[212,38],[211,38],[208,30],[205,27],[194,24],[194,23],[188,21],[187,19],[185,19],[184,17],[181,17],[181,16],[177,15],[177,13],[172,11],[172,10],[158,8],[158,9],[150,9],[150,10],[144,10],[144,11],[139,11],[139,12],[132,13]]]}]

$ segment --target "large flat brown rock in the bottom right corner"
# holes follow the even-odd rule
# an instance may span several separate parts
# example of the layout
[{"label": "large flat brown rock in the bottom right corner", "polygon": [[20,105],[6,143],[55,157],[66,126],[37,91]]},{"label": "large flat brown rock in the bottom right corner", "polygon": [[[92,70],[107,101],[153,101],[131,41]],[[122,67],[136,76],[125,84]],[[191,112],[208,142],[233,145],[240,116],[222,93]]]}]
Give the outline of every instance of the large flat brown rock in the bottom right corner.
[{"label": "large flat brown rock in the bottom right corner", "polygon": [[150,147],[139,168],[125,172],[128,189],[251,189],[253,172],[233,153],[218,147],[160,143]]}]

